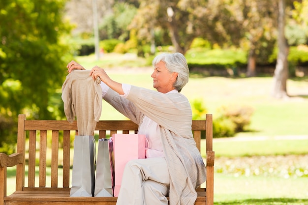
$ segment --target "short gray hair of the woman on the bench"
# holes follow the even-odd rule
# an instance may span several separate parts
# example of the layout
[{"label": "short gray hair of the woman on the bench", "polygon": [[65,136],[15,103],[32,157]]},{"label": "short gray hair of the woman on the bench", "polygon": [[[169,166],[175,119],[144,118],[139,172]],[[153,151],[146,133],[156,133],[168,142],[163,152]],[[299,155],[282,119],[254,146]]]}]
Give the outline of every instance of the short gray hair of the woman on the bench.
[{"label": "short gray hair of the woman on the bench", "polygon": [[178,73],[177,80],[173,84],[173,87],[181,92],[189,79],[189,68],[184,55],[181,53],[160,54],[152,61],[153,66],[155,67],[160,61],[165,63],[167,70]]}]

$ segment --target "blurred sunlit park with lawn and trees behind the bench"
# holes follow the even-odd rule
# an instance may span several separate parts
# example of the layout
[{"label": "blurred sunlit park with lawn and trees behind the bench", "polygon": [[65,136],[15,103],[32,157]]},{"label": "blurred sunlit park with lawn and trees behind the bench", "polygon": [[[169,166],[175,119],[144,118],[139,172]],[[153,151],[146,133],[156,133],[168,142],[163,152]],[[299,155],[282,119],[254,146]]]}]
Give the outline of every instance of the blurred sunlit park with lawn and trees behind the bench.
[{"label": "blurred sunlit park with lawn and trees behind the bench", "polygon": [[215,204],[308,204],[308,0],[1,0],[0,38],[0,152],[18,114],[66,119],[70,60],[153,89],[154,56],[181,52],[193,118],[214,117]]}]

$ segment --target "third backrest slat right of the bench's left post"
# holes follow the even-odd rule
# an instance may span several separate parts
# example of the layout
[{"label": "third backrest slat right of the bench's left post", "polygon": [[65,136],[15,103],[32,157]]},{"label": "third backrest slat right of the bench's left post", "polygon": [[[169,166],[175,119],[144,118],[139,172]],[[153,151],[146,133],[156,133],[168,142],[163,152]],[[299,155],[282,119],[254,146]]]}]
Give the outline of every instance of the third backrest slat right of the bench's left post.
[{"label": "third backrest slat right of the bench's left post", "polygon": [[51,187],[58,187],[58,167],[59,167],[59,131],[52,131],[51,145]]}]

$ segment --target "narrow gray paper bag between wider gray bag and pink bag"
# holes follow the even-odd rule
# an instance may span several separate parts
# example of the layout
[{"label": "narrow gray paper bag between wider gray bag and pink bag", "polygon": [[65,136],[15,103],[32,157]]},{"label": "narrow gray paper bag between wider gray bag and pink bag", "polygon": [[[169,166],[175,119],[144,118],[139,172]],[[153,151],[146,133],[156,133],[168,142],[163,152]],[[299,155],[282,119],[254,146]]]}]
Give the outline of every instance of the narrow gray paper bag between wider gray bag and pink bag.
[{"label": "narrow gray paper bag between wider gray bag and pink bag", "polygon": [[98,140],[95,197],[112,197],[111,164],[108,139]]}]

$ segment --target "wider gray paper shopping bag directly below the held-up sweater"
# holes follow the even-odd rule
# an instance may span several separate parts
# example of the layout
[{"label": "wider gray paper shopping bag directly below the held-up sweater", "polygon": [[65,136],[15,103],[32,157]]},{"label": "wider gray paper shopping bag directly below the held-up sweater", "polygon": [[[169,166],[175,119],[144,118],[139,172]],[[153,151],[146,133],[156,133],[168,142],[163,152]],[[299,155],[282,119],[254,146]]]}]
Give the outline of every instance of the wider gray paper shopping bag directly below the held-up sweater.
[{"label": "wider gray paper shopping bag directly below the held-up sweater", "polygon": [[95,140],[75,136],[71,197],[92,197],[95,187]]}]

